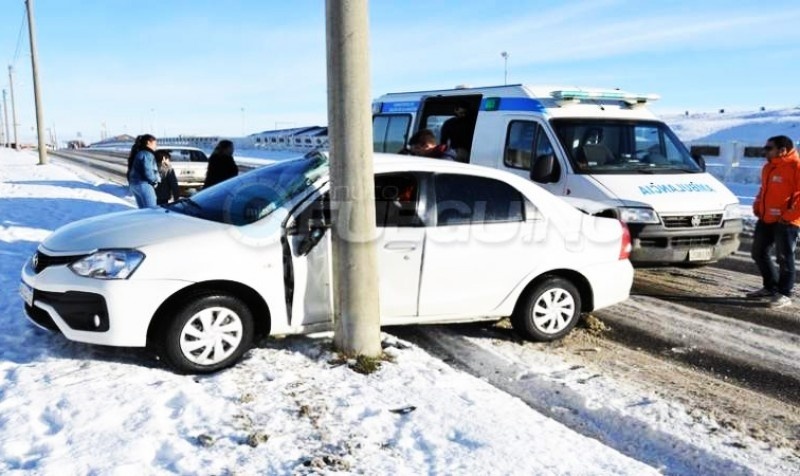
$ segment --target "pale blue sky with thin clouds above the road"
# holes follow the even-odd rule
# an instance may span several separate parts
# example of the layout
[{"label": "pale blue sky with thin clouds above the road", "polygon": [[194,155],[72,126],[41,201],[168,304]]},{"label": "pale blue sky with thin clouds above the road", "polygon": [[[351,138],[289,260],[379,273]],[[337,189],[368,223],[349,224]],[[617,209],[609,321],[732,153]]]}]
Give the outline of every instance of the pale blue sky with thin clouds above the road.
[{"label": "pale blue sky with thin clouds above the road", "polygon": [[[372,96],[502,84],[507,51],[509,83],[656,93],[662,114],[800,106],[795,0],[494,3],[370,2]],[[45,123],[62,141],[327,123],[322,0],[34,7]],[[13,65],[18,133],[34,141],[24,19],[23,0],[0,0],[0,87]]]}]

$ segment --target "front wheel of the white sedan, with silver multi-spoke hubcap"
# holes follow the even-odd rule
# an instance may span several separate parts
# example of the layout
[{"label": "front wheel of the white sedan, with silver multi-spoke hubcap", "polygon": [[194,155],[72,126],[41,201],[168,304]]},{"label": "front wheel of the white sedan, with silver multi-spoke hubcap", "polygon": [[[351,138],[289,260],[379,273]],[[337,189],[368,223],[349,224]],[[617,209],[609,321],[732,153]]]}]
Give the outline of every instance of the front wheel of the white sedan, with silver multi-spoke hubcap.
[{"label": "front wheel of the white sedan, with silver multi-spoke hubcap", "polygon": [[161,356],[173,369],[214,372],[235,364],[252,345],[252,313],[233,296],[193,296],[166,324],[162,339]]}]

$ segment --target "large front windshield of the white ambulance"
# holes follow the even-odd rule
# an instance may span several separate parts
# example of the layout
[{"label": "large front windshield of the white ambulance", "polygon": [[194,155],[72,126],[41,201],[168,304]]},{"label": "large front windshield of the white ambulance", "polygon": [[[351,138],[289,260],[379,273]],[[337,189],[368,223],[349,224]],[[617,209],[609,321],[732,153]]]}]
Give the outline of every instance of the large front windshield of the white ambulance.
[{"label": "large front windshield of the white ambulance", "polygon": [[554,119],[552,124],[579,174],[702,172],[662,122]]}]

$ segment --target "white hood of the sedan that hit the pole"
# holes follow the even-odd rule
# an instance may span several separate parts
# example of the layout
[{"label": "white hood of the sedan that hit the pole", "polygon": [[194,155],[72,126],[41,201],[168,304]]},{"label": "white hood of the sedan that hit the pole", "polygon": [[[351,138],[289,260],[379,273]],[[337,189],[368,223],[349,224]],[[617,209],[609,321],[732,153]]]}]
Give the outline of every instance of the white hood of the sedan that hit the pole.
[{"label": "white hood of the sedan that hit the pole", "polygon": [[47,237],[42,246],[55,253],[91,253],[98,249],[140,248],[176,236],[219,231],[223,225],[147,208],[99,215],[65,225]]}]

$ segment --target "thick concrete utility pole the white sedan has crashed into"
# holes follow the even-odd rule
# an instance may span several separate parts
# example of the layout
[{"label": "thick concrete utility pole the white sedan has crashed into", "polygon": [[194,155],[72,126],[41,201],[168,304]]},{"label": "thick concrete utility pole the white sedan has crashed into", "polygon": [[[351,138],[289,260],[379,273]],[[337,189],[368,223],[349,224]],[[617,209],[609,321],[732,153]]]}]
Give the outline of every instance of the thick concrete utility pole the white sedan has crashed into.
[{"label": "thick concrete utility pole the white sedan has crashed into", "polygon": [[334,345],[381,355],[367,0],[327,0]]}]

